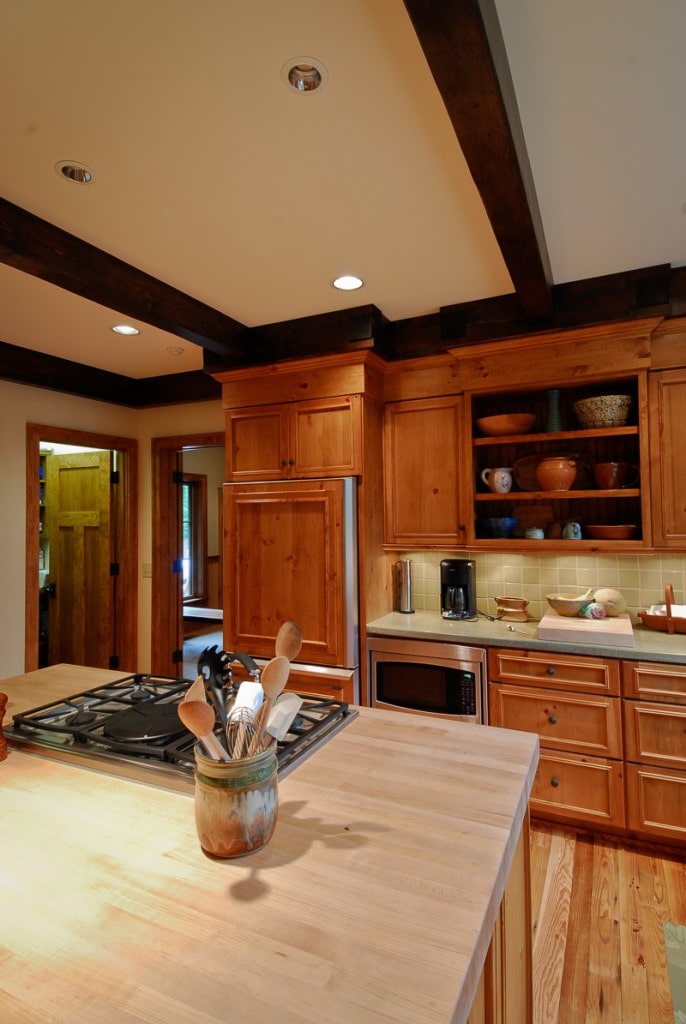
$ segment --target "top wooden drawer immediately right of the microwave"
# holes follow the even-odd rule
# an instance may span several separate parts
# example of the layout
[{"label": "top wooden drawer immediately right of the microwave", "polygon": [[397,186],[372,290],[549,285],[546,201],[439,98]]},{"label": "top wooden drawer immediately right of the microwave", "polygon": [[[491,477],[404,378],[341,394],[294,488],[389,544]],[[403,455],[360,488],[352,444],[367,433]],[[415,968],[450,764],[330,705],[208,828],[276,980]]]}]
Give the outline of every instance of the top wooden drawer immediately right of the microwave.
[{"label": "top wooden drawer immediately right of the microwave", "polygon": [[619,663],[576,654],[547,654],[538,650],[488,651],[488,675],[504,683],[544,685],[585,693],[619,693]]}]

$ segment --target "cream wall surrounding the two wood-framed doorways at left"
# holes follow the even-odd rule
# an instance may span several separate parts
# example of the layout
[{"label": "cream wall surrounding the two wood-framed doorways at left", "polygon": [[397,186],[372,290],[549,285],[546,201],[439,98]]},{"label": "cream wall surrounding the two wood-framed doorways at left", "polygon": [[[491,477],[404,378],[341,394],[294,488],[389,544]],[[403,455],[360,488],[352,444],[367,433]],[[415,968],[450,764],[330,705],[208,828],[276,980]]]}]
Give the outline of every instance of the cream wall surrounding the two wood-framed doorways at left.
[{"label": "cream wall surrounding the two wood-framed doorways at left", "polygon": [[219,399],[188,406],[131,410],[108,402],[0,381],[0,679],[24,672],[27,423],[133,437],[139,444],[138,670],[149,669],[154,581],[152,561],[151,439],[213,433],[224,428]]}]

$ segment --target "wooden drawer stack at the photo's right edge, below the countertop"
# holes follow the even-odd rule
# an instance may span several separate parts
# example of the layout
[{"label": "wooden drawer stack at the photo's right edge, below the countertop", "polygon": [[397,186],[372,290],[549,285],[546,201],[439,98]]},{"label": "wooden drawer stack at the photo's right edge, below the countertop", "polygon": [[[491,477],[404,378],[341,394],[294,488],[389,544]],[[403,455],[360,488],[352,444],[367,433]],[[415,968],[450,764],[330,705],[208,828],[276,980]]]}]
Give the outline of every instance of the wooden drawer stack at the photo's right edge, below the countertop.
[{"label": "wooden drawer stack at the photo's right edge, below the countertop", "polygon": [[686,842],[686,666],[623,664],[627,824]]}]

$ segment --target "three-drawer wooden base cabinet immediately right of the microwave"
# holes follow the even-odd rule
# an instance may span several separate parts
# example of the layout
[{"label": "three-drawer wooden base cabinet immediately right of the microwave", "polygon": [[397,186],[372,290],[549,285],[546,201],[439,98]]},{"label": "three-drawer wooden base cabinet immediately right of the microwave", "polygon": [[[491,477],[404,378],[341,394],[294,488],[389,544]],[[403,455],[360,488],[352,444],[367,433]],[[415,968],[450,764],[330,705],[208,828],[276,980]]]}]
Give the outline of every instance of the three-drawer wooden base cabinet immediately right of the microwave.
[{"label": "three-drawer wooden base cabinet immediately right of the microwave", "polygon": [[624,828],[618,662],[490,648],[488,677],[490,724],[541,739],[531,813]]}]

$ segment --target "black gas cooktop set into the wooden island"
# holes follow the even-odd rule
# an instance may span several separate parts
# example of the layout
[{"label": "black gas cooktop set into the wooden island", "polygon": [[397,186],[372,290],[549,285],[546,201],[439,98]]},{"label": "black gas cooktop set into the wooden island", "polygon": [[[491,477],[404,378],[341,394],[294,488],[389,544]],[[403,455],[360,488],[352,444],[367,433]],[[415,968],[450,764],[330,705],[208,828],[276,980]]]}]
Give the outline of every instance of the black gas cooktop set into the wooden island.
[{"label": "black gas cooktop set into the wooden island", "polygon": [[[177,706],[190,680],[135,674],[14,715],[4,734],[14,746],[113,774],[162,784],[192,785],[196,737]],[[304,703],[278,742],[278,777],[348,724],[349,705],[301,694]],[[217,735],[221,729],[217,725]]]}]

